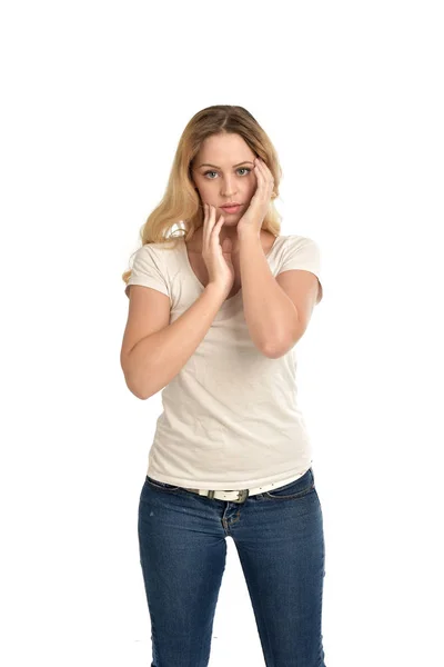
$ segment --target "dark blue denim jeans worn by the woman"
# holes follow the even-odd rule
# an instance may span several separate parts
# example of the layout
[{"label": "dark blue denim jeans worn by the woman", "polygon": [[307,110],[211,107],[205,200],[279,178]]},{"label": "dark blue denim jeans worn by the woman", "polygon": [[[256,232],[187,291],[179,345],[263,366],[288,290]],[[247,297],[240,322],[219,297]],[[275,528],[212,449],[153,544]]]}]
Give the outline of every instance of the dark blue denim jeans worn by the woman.
[{"label": "dark blue denim jeans worn by the woman", "polygon": [[243,504],[147,476],[138,532],[151,667],[209,665],[226,537],[239,552],[266,667],[325,667],[325,549],[312,468]]}]

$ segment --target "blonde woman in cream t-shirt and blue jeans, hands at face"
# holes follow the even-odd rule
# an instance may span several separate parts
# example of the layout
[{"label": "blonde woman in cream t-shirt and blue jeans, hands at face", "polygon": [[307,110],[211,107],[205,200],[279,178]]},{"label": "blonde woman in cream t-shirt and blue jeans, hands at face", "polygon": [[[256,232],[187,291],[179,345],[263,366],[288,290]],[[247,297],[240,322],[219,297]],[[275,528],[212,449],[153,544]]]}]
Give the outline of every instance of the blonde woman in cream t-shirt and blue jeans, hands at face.
[{"label": "blonde woman in cream t-shirt and blue jeans, hands at face", "polygon": [[268,667],[325,665],[322,510],[293,350],[322,298],[320,253],[280,235],[280,175],[245,109],[198,112],[123,275],[125,382],[163,404],[139,504],[152,667],[209,664],[226,537]]}]

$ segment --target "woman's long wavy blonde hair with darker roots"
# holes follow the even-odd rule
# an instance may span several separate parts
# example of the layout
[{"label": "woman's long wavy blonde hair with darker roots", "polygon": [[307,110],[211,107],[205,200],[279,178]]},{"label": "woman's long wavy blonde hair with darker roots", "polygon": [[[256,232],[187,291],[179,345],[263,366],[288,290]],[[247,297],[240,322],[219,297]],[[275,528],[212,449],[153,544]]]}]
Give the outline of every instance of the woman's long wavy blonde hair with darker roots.
[{"label": "woman's long wavy blonde hair with darker roots", "polygon": [[[243,107],[206,107],[192,117],[182,132],[164,197],[140,230],[142,246],[172,243],[172,247],[176,248],[179,239],[184,238],[189,241],[203,225],[202,202],[191,178],[192,165],[203,141],[212,135],[221,133],[240,135],[254,155],[264,160],[274,178],[274,197],[279,197],[281,166],[271,140],[255,118]],[[182,227],[178,229],[179,233],[174,235],[171,229],[180,222]],[[281,231],[281,216],[273,200],[262,222],[262,229],[273,236],[279,236]],[[135,252],[137,250],[133,255]],[[131,270],[122,275],[124,282],[128,282],[130,276]]]}]

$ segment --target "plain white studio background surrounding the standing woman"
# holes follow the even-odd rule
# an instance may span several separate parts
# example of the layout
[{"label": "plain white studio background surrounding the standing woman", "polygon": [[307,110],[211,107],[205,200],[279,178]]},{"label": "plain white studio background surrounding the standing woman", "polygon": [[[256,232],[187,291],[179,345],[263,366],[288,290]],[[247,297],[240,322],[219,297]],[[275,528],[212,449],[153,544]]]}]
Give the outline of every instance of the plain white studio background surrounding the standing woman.
[{"label": "plain white studio background surrounding the standing woman", "polygon": [[[215,103],[269,133],[282,233],[322,253],[297,356],[325,663],[442,664],[440,6],[2,3],[3,665],[150,664],[137,511],[161,399],[124,382],[121,275]],[[210,664],[261,667],[228,547]]]}]

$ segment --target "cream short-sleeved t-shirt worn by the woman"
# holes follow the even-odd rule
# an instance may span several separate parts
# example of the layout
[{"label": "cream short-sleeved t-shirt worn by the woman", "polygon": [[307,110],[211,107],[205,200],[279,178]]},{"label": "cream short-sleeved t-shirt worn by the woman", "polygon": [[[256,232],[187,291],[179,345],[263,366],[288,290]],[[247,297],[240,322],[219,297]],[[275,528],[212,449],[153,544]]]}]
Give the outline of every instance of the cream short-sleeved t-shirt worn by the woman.
[{"label": "cream short-sleeved t-shirt worn by the woman", "polygon": [[[266,255],[275,277],[289,269],[314,273],[321,285],[317,243],[278,236]],[[178,248],[147,243],[134,255],[125,287],[144,285],[170,297],[170,323],[204,290],[183,239]],[[147,474],[167,484],[201,489],[245,489],[302,476],[311,442],[296,400],[295,348],[265,357],[251,340],[242,288],[225,300],[182,370],[162,389],[163,411]]]}]

